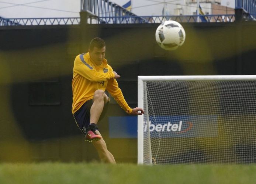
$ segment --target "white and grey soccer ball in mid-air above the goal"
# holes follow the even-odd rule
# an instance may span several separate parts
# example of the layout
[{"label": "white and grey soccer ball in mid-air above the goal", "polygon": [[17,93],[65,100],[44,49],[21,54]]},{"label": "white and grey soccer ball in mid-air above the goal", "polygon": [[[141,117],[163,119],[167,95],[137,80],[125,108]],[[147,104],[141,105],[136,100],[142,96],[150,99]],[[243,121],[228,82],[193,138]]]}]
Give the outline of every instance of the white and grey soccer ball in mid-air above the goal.
[{"label": "white and grey soccer ball in mid-air above the goal", "polygon": [[186,33],[176,21],[165,21],[156,29],[156,42],[166,50],[175,50],[183,45]]}]

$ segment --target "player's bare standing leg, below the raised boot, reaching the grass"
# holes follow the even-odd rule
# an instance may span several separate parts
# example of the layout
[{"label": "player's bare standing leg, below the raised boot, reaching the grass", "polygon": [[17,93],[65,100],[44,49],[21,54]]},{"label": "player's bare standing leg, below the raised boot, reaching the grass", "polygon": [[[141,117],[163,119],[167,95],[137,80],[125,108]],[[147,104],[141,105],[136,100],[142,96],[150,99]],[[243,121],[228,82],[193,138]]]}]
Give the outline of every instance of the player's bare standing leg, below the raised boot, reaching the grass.
[{"label": "player's bare standing leg, below the raised boot, reaching the grass", "polygon": [[[101,136],[98,130],[96,130],[96,134]],[[115,163],[114,156],[108,151],[107,145],[102,137],[99,141],[93,141],[92,144],[96,148],[102,162]]]}]

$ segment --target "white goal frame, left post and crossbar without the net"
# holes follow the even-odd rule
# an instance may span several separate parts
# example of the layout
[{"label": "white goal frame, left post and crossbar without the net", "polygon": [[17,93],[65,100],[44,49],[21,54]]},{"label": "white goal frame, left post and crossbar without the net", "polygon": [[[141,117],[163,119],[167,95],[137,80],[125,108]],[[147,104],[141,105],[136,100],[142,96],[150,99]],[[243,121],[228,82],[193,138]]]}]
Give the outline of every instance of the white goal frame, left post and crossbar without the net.
[{"label": "white goal frame, left post and crossbar without the net", "polygon": [[[144,106],[145,81],[256,81],[256,75],[138,76],[138,107],[142,108]],[[144,115],[138,116],[138,164],[143,164],[143,120]],[[150,158],[152,160],[152,156]]]}]

